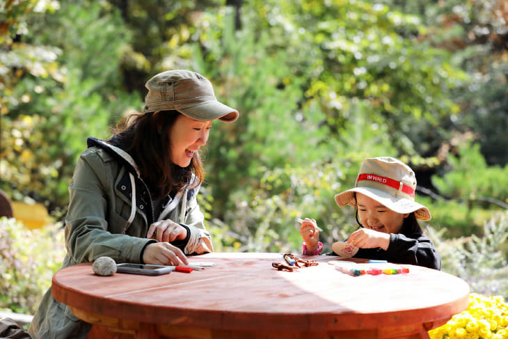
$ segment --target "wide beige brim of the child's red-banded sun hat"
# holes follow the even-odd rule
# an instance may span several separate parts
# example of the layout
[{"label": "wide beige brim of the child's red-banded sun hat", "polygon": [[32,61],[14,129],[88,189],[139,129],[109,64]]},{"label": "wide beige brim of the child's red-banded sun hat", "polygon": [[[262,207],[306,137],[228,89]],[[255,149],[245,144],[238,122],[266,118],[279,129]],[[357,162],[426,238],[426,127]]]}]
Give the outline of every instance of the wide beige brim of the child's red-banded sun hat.
[{"label": "wide beige brim of the child's red-banded sun hat", "polygon": [[371,187],[355,187],[354,189],[348,189],[340,194],[335,195],[335,202],[340,207],[350,205],[356,208],[355,193],[361,193],[369,198],[376,200],[381,205],[386,206],[390,210],[405,214],[415,212],[417,219],[423,221],[429,221],[431,219],[430,211],[427,207],[419,204],[413,200],[404,197],[396,197],[391,194],[381,191],[379,189],[373,189]]}]

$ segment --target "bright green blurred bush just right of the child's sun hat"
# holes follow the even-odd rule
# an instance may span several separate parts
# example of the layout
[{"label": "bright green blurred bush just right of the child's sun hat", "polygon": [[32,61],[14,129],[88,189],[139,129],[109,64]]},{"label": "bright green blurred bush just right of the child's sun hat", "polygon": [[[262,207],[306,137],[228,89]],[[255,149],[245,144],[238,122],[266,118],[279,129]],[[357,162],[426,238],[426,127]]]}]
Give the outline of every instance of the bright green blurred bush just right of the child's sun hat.
[{"label": "bright green blurred bush just right of the child's sun hat", "polygon": [[487,166],[477,143],[459,146],[431,182],[439,194],[418,201],[430,208],[431,226],[446,230],[449,238],[481,234],[486,221],[508,208],[508,166]]}]

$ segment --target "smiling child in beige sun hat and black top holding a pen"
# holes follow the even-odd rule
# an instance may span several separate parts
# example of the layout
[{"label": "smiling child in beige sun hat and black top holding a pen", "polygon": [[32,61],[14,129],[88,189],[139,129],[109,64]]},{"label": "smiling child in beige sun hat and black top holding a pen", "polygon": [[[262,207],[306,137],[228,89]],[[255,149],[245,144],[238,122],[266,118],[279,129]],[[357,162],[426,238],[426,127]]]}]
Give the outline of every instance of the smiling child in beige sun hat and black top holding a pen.
[{"label": "smiling child in beige sun hat and black top holding a pen", "polygon": [[[360,225],[346,240],[351,245],[346,251],[356,258],[440,269],[440,255],[418,225],[417,219],[429,221],[431,214],[427,207],[415,202],[415,188],[415,173],[402,161],[392,157],[365,159],[356,187],[335,196],[340,207],[356,208]],[[301,223],[304,255],[321,253],[323,244],[318,230],[314,219],[305,218]],[[334,244],[331,254],[342,255],[344,249],[335,245],[340,243]]]}]

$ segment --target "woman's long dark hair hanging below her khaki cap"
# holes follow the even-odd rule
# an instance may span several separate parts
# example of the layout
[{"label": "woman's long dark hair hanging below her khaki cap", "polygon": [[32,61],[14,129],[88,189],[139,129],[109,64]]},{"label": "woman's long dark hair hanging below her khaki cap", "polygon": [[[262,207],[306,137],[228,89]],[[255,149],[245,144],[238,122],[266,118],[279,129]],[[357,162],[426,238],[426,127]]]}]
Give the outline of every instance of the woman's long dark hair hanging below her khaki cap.
[{"label": "woman's long dark hair hanging below her khaki cap", "polygon": [[170,127],[180,114],[178,111],[134,113],[113,128],[112,143],[136,161],[152,198],[162,198],[172,190],[198,187],[205,179],[198,152],[194,153],[186,168],[171,161]]}]

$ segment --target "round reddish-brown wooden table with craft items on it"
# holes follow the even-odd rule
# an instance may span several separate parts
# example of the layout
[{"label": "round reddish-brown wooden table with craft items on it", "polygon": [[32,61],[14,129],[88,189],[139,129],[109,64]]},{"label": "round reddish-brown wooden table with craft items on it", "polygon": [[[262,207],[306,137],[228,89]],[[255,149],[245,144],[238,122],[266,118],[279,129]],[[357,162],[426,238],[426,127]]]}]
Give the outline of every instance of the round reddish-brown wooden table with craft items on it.
[{"label": "round reddish-brown wooden table with craft items on it", "polygon": [[328,264],[337,257],[301,258],[319,265],[278,271],[280,253],[209,253],[189,262],[216,265],[190,274],[97,276],[80,264],[54,275],[52,294],[96,325],[88,338],[428,338],[468,307],[468,284],[442,271],[349,276]]}]

